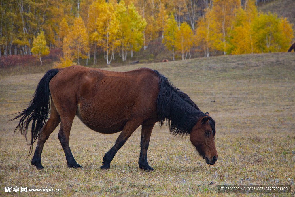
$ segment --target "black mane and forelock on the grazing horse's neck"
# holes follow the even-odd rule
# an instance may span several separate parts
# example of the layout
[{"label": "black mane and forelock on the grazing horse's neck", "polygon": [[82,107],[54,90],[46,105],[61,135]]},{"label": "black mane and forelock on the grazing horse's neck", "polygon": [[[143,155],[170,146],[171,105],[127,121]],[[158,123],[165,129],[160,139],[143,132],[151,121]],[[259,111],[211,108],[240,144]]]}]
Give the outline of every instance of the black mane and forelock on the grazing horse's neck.
[{"label": "black mane and forelock on the grazing horse's neck", "polygon": [[[177,135],[188,135],[200,117],[206,116],[191,98],[174,87],[169,79],[154,70],[159,76],[160,92],[157,98],[157,113],[160,126],[166,122],[170,132]],[[215,135],[215,121],[209,117],[209,123]]]}]

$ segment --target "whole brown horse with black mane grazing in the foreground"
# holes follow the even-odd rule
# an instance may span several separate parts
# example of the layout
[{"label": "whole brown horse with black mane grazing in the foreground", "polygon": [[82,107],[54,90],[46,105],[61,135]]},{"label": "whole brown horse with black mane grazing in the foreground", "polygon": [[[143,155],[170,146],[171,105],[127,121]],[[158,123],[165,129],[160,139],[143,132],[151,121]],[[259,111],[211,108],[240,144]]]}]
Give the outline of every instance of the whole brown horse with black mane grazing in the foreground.
[{"label": "whole brown horse with black mane grazing in the foreground", "polygon": [[[46,122],[49,111],[50,118]],[[37,169],[43,168],[43,145],[59,124],[58,139],[68,167],[81,167],[69,146],[75,115],[99,133],[122,131],[115,145],[104,155],[101,168],[110,167],[117,151],[135,129],[142,125],[138,164],[141,169],[153,170],[148,165],[147,151],[152,129],[158,121],[161,126],[166,121],[171,133],[175,135],[190,135],[191,143],[201,157],[206,159],[207,164],[214,165],[217,160],[214,120],[209,114],[201,112],[188,95],[173,87],[156,70],[142,68],[114,72],[70,66],[47,71],[37,85],[27,109],[13,118],[20,118],[14,132],[19,130],[26,138],[29,123],[32,122],[29,155],[38,138],[31,162]]]}]

